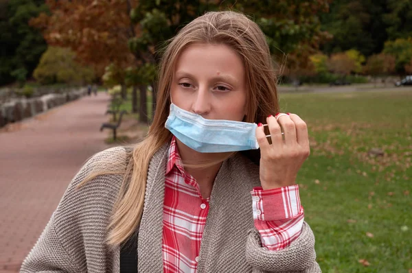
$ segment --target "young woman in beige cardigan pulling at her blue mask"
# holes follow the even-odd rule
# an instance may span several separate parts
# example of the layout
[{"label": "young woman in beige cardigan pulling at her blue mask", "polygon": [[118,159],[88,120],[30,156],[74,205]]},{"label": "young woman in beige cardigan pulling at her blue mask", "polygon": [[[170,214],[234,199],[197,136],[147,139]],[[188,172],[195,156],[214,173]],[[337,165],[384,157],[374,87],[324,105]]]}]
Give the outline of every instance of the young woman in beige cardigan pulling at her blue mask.
[{"label": "young woman in beige cardigan pulling at her blue mask", "polygon": [[139,272],[320,272],[296,185],[308,130],[277,112],[258,25],[198,17],[165,50],[146,139],[82,167],[21,272],[119,272],[129,244]]}]

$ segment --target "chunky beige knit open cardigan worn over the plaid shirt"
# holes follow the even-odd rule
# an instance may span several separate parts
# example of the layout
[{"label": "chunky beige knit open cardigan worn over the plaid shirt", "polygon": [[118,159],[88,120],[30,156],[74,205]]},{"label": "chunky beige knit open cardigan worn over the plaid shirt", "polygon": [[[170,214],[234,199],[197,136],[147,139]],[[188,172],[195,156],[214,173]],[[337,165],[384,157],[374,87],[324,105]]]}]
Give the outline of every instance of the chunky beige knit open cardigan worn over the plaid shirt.
[{"label": "chunky beige knit open cardigan worn over the plaid shirt", "polygon": [[[148,169],[138,235],[138,272],[163,272],[167,152],[168,145],[161,147]],[[96,163],[125,160],[124,148],[115,147],[96,154],[80,169],[23,261],[21,272],[119,272],[119,247],[108,248],[104,239],[122,177],[104,175],[80,189],[76,186]],[[306,222],[301,235],[287,248],[269,251],[261,246],[250,194],[259,185],[258,166],[242,154],[222,164],[211,191],[198,272],[321,272],[315,261],[314,236]]]}]

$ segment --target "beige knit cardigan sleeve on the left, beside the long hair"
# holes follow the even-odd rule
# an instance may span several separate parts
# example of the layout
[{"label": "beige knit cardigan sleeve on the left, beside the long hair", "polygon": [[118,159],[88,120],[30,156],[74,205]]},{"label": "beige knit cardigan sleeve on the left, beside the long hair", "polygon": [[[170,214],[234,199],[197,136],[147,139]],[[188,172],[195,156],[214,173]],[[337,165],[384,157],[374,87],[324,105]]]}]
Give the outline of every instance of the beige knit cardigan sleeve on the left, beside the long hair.
[{"label": "beige knit cardigan sleeve on the left, beside the long hair", "polygon": [[78,186],[92,170],[115,171],[118,166],[124,166],[125,154],[124,148],[115,147],[95,154],[84,164],[23,261],[22,273],[109,270],[112,261],[105,244],[107,224],[122,176],[104,174]]}]

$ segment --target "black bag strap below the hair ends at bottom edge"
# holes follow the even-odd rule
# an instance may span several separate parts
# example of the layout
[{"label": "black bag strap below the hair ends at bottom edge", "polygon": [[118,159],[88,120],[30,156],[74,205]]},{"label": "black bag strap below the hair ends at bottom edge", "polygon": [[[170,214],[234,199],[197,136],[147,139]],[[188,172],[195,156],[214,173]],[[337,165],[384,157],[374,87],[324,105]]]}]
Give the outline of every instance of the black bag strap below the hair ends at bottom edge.
[{"label": "black bag strap below the hair ends at bottom edge", "polygon": [[120,273],[137,273],[137,235],[120,247]]}]

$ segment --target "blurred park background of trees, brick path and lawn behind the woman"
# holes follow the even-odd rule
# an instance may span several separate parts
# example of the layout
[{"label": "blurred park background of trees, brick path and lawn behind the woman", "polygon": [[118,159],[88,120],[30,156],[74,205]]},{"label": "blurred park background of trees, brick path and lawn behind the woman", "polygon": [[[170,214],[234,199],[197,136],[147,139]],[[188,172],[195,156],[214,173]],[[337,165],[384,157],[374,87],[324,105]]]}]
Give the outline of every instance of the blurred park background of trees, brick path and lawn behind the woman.
[{"label": "blurred park background of trees, brick path and lawn behind the woman", "polygon": [[207,11],[262,28],[323,272],[412,272],[412,1],[0,0],[0,272],[18,272],[90,156],[136,143],[165,41]]}]

